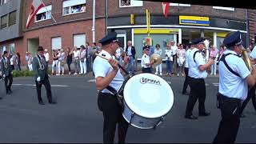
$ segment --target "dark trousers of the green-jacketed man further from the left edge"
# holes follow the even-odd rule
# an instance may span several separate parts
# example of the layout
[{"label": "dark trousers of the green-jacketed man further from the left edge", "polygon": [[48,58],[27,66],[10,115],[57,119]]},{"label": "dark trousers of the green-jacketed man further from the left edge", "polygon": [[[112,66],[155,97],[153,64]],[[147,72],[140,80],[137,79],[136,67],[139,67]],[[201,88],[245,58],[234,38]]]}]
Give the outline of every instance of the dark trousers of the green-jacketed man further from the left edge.
[{"label": "dark trousers of the green-jacketed man further from the left edge", "polygon": [[51,90],[50,90],[50,82],[49,82],[49,78],[48,76],[46,76],[46,78],[40,82],[35,81],[35,85],[37,87],[37,93],[38,93],[38,102],[42,102],[42,97],[41,97],[41,89],[42,89],[42,85],[44,85],[46,87],[46,95],[48,98],[48,102],[53,102],[53,98],[51,95]]}]

